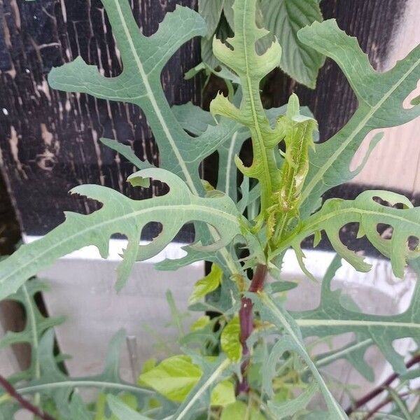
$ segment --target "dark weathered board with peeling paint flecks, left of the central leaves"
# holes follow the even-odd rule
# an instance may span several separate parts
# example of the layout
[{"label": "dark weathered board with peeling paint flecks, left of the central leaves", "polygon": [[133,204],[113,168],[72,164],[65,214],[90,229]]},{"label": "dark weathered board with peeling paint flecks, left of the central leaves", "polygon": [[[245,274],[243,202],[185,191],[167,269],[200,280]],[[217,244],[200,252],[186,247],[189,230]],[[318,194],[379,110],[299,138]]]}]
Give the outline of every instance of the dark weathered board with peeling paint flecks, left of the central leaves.
[{"label": "dark weathered board with peeling paint flecks, left of the central leaves", "polygon": [[[196,6],[195,0],[131,3],[146,35],[153,34],[176,4]],[[61,223],[64,210],[94,209],[67,195],[82,183],[106,185],[135,198],[151,195],[130,188],[125,179],[132,165],[99,144],[102,136],[119,139],[131,144],[139,157],[158,162],[141,111],[48,87],[51,67],[78,55],[97,64],[105,76],[121,71],[99,0],[0,0],[0,166],[22,229],[29,235],[43,235]],[[183,73],[199,60],[197,40],[172,57],[162,72],[170,103],[199,101],[200,80],[183,80]],[[191,239],[191,232],[186,230],[181,239]]]}]

